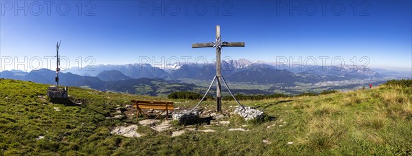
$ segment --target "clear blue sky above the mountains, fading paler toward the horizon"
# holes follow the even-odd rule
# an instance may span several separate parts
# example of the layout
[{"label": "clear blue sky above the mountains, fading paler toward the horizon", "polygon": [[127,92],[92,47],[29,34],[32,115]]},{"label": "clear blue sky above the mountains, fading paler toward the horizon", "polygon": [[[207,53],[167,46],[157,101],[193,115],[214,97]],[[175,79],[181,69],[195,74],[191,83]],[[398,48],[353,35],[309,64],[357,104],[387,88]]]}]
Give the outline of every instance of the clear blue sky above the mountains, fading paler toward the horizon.
[{"label": "clear blue sky above the mountains, fading paler toward the horizon", "polygon": [[411,71],[411,8],[411,1],[1,1],[1,70],[24,69],[16,62],[25,57],[28,70],[40,61],[47,67],[44,57],[55,55],[60,40],[70,67],[139,63],[141,57],[211,62],[214,49],[191,44],[214,41],[220,25],[224,41],[246,43],[224,48],[224,57],[296,62],[328,56],[330,64],[339,56],[346,65],[354,57],[363,65],[366,56],[368,67]]}]

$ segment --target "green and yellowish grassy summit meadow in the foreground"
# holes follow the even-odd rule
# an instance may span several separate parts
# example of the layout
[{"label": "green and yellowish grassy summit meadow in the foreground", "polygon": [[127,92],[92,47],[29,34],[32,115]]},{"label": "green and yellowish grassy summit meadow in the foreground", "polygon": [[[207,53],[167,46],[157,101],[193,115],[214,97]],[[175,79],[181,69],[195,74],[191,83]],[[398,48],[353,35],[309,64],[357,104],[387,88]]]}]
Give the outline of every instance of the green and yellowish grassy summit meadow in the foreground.
[{"label": "green and yellowish grassy summit meadow in the foreground", "polygon": [[[391,82],[397,84],[397,82]],[[0,155],[411,155],[412,88],[382,85],[374,89],[267,100],[242,100],[263,109],[264,122],[245,122],[230,115],[230,124],[196,124],[214,133],[187,131],[173,124],[157,132],[139,126],[144,137],[111,135],[115,126],[135,118],[106,119],[132,99],[166,98],[104,93],[69,87],[71,100],[57,104],[42,98],[47,85],[0,80]],[[189,109],[196,100],[174,100]],[[232,107],[231,107],[232,106]],[[226,114],[236,102],[224,101]],[[62,111],[55,111],[58,107]],[[201,108],[214,109],[213,101]],[[247,125],[242,127],[242,125]],[[267,128],[270,126],[270,128]],[[231,128],[249,131],[228,131]],[[44,136],[43,140],[36,137]],[[263,143],[268,140],[271,144]],[[293,144],[288,145],[288,142]]]}]

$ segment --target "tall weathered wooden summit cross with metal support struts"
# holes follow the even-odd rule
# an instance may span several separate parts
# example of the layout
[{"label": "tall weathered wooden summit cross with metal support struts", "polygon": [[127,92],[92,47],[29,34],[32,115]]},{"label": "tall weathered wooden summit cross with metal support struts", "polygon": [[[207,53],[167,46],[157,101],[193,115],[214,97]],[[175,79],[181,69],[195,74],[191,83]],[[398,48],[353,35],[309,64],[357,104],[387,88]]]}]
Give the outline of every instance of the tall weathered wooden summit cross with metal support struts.
[{"label": "tall weathered wooden summit cross with metal support struts", "polygon": [[[235,96],[233,96],[233,93],[231,93],[229,86],[227,86],[227,83],[225,81],[225,78],[222,77],[222,72],[221,72],[221,67],[222,67],[222,62],[220,61],[220,54],[222,53],[222,47],[244,47],[244,42],[225,42],[222,41],[220,38],[220,26],[216,25],[216,41],[212,43],[195,43],[192,44],[192,48],[198,48],[198,47],[214,47],[216,49],[216,76],[214,76],[214,79],[211,81],[211,84],[209,86],[209,89],[207,89],[205,96],[201,99],[201,101],[196,105],[198,107],[199,104],[203,101],[203,99],[206,97],[207,93],[209,92],[211,86],[213,85],[214,81],[216,80],[216,107],[217,111],[222,111],[222,97],[220,95],[221,92],[221,85],[220,85],[220,78],[222,78],[223,82],[225,82],[225,85],[227,87],[227,90],[229,90],[229,93],[233,97],[234,100],[236,100]],[[242,104],[239,103],[239,106],[244,109]],[[194,109],[196,109],[194,107]]]}]

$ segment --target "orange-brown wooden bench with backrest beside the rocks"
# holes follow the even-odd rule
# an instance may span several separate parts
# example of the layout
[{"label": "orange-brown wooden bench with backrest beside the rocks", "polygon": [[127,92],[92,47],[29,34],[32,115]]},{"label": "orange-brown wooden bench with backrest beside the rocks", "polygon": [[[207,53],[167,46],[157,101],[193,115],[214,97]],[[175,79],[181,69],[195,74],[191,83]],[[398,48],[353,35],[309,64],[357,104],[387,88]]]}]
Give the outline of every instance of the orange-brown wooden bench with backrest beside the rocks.
[{"label": "orange-brown wooden bench with backrest beside the rocks", "polygon": [[132,100],[133,108],[137,109],[137,118],[139,118],[139,113],[148,118],[148,115],[141,111],[141,109],[157,109],[163,110],[155,119],[157,119],[163,112],[166,111],[166,120],[168,120],[169,110],[173,110],[173,102],[168,101],[144,101],[144,100]]}]

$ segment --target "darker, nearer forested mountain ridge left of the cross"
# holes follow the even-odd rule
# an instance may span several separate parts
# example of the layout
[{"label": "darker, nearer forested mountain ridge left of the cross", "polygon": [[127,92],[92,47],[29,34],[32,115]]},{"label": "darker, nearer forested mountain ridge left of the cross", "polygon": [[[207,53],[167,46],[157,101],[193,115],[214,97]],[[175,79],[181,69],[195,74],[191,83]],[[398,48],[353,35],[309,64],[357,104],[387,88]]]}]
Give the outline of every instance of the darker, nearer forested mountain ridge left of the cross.
[{"label": "darker, nearer forested mountain ridge left of the cross", "polygon": [[[112,75],[113,74],[113,75]],[[56,71],[49,69],[33,70],[29,73],[23,71],[2,71],[0,78],[10,78],[16,80],[27,80],[43,84],[56,84],[54,77]],[[192,84],[176,83],[163,80],[162,78],[129,78],[119,71],[102,71],[99,77],[79,76],[71,73],[60,73],[60,84],[76,87],[88,87],[101,91],[119,91],[124,93],[134,93],[147,96],[160,96],[171,93],[172,91],[194,91],[198,87]],[[113,80],[113,76],[122,76],[124,80]]]}]

